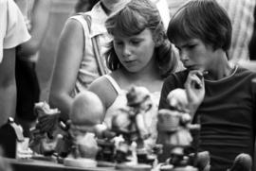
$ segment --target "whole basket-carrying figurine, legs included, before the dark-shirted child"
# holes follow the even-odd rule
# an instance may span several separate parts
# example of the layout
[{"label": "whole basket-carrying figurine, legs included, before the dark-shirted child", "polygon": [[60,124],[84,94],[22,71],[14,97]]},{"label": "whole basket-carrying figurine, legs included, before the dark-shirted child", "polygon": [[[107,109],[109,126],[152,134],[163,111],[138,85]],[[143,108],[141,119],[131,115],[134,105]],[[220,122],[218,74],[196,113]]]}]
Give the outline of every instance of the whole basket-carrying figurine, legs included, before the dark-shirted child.
[{"label": "whole basket-carrying figurine, legs included, before the dark-shirted child", "polygon": [[[161,140],[171,145],[170,161],[174,167],[189,165],[190,161],[184,160],[188,156],[186,149],[192,145],[191,129],[199,130],[199,125],[192,125],[192,116],[188,110],[188,98],[184,89],[175,89],[167,96],[170,109],[158,111],[158,131]],[[193,168],[196,170],[195,168]]]}]

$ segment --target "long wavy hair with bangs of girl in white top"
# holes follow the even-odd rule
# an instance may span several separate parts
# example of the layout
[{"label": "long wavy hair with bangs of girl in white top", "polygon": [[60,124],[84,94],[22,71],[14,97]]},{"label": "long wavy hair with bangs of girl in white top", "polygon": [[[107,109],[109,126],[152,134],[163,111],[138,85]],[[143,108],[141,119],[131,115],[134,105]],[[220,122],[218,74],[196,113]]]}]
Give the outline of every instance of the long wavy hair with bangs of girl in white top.
[{"label": "long wavy hair with bangs of girl in white top", "polygon": [[[172,45],[168,41],[165,28],[155,4],[149,0],[131,0],[123,9],[119,9],[105,22],[106,29],[113,36],[130,37],[148,28],[156,43],[156,64],[161,77],[174,72],[177,60],[172,56]],[[107,66],[111,71],[121,67],[113,42],[106,52]]]}]

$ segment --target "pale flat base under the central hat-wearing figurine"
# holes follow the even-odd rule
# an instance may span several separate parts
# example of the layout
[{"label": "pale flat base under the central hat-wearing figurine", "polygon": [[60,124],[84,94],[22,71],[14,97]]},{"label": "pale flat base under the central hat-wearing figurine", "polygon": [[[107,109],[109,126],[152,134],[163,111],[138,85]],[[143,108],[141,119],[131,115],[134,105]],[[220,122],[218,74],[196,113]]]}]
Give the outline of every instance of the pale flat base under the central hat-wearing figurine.
[{"label": "pale flat base under the central hat-wearing figurine", "polygon": [[121,171],[151,171],[152,166],[143,163],[138,163],[136,165],[119,163],[116,165],[116,168]]}]

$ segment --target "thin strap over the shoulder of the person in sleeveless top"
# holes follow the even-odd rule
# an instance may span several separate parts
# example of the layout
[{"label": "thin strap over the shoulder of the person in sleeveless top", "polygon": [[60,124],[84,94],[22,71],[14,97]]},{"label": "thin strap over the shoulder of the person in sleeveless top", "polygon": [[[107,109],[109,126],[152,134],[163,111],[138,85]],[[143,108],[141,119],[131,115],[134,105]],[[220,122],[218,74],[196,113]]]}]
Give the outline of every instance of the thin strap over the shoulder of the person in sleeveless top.
[{"label": "thin strap over the shoulder of the person in sleeveless top", "polygon": [[[82,15],[83,19],[86,21],[86,23],[88,25],[89,32],[90,32],[91,31],[91,17],[89,15],[87,15],[86,13],[84,13],[84,12],[78,13],[78,14]],[[104,63],[101,59],[100,46],[99,46],[99,37],[98,36],[92,38],[92,46],[93,46],[93,51],[94,51],[94,55],[95,55],[95,60],[96,60],[97,65],[98,65],[99,74],[100,74],[100,76],[103,76],[107,72],[105,70]]]}]

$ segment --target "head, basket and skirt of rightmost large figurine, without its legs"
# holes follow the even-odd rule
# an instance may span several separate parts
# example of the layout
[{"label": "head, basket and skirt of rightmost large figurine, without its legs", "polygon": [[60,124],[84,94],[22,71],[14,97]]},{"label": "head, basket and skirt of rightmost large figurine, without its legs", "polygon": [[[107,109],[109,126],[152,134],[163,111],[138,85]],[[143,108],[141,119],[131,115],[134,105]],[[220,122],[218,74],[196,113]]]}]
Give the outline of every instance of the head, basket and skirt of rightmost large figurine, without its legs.
[{"label": "head, basket and skirt of rightmost large figurine, without its legs", "polygon": [[185,90],[175,89],[167,96],[170,110],[158,111],[158,131],[166,132],[165,143],[174,146],[188,146],[192,143],[188,113],[188,99]]}]

